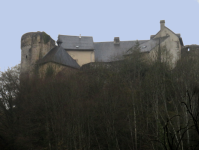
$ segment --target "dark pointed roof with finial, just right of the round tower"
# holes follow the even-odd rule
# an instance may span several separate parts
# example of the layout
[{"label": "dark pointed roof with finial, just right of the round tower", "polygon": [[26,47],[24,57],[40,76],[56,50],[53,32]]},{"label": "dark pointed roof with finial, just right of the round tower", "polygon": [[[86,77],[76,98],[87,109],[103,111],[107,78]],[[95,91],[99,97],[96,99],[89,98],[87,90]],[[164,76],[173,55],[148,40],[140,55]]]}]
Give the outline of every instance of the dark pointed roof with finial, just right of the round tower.
[{"label": "dark pointed roof with finial, just right of the round tower", "polygon": [[55,46],[51,49],[39,62],[38,64],[44,64],[48,62],[58,63],[64,66],[73,68],[80,68],[78,63],[61,47]]}]

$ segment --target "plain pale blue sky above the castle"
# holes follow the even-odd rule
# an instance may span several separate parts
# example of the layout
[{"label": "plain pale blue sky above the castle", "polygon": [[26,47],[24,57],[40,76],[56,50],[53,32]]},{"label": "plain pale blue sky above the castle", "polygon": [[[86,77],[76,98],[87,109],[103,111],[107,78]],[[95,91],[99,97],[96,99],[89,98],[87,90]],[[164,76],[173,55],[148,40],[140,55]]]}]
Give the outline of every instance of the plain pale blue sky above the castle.
[{"label": "plain pale blue sky above the castle", "polygon": [[184,45],[199,45],[199,0],[0,0],[0,71],[21,61],[21,37],[45,31],[94,42],[149,40],[160,20]]}]

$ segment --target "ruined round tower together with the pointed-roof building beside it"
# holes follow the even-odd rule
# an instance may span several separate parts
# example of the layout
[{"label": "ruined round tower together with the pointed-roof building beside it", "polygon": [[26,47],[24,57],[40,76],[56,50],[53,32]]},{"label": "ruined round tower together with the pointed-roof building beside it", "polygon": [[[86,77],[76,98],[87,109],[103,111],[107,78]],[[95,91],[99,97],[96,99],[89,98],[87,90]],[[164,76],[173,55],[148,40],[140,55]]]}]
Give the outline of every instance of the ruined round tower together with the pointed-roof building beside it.
[{"label": "ruined round tower together with the pointed-roof building beside it", "polygon": [[26,33],[21,38],[21,76],[57,74],[79,69],[77,62],[45,32]]}]

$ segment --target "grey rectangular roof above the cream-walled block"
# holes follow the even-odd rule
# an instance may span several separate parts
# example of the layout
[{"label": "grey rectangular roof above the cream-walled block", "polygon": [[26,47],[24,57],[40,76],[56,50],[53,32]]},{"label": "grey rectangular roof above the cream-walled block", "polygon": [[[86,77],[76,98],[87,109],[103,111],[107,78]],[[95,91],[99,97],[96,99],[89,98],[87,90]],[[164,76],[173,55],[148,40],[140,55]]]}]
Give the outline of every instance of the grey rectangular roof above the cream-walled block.
[{"label": "grey rectangular roof above the cream-walled block", "polygon": [[91,36],[70,36],[59,35],[58,40],[62,41],[61,46],[66,50],[94,50],[93,37]]}]

